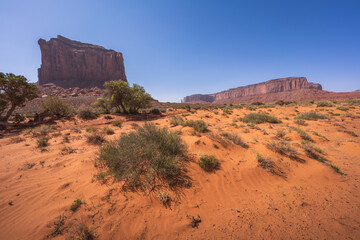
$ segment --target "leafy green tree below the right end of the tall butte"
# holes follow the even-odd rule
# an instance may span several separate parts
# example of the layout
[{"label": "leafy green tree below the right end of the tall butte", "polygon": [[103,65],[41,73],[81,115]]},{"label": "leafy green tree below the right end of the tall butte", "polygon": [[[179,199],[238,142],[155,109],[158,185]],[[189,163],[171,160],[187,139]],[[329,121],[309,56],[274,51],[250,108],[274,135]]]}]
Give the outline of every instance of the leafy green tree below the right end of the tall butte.
[{"label": "leafy green tree below the right end of the tall butte", "polygon": [[117,108],[120,112],[136,113],[140,108],[151,106],[151,95],[140,85],[134,84],[130,87],[128,82],[118,80],[106,82],[104,87],[111,107]]}]

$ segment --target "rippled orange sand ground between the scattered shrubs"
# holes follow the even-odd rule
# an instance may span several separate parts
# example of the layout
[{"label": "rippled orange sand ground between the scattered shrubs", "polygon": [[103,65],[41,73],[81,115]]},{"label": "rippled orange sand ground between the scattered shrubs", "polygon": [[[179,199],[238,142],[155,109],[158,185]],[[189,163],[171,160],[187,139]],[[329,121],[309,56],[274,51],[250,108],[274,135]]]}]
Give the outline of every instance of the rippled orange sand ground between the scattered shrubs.
[{"label": "rippled orange sand ground between the scattered shrubs", "polygon": [[[300,112],[314,109],[315,106],[297,108]],[[19,143],[11,142],[13,136],[5,137],[0,139],[0,239],[46,238],[53,232],[58,216],[65,217],[65,228],[54,239],[71,239],[81,223],[99,239],[359,239],[360,138],[338,129],[360,135],[360,118],[345,117],[348,113],[360,116],[360,107],[348,113],[335,107],[326,109],[341,116],[332,116],[330,121],[307,121],[309,125],[300,128],[308,131],[314,145],[322,148],[326,158],[346,175],[304,154],[298,133],[288,132],[289,126],[299,127],[293,123],[294,107],[271,109],[269,113],[283,123],[257,125],[268,135],[249,126],[231,126],[234,118],[251,112],[245,109],[234,110],[228,117],[221,110],[218,115],[201,110],[187,116],[211,124],[210,132],[196,136],[189,127],[171,128],[179,132],[193,160],[187,166],[192,187],[170,192],[170,207],[163,206],[156,193],[122,192],[121,183],[92,181],[98,172],[94,167],[98,147],[86,142],[85,128],[108,126],[106,123],[111,120],[78,120],[77,125],[59,121],[61,136],[52,137],[45,152],[36,148],[36,139],[30,135],[21,134],[25,141]],[[187,112],[168,112],[183,113]],[[123,127],[110,125],[116,134],[108,139],[133,131],[135,121],[114,118],[124,121]],[[152,122],[170,127],[169,119],[164,115]],[[136,123],[142,125],[144,121]],[[76,133],[72,128],[82,132]],[[287,130],[286,137],[305,163],[292,161],[265,146],[280,128]],[[223,131],[237,133],[249,148],[234,144],[224,148],[209,135]],[[65,133],[70,133],[70,143],[62,143]],[[197,140],[200,144],[195,144]],[[76,153],[62,155],[64,145],[76,148]],[[203,153],[216,155],[220,169],[204,172],[197,164]],[[287,177],[259,167],[257,153],[274,159]],[[29,169],[26,163],[36,165]],[[77,198],[86,204],[73,213],[69,208]],[[10,201],[13,205],[9,205]],[[192,228],[189,219],[198,215],[202,222],[198,228]]]}]

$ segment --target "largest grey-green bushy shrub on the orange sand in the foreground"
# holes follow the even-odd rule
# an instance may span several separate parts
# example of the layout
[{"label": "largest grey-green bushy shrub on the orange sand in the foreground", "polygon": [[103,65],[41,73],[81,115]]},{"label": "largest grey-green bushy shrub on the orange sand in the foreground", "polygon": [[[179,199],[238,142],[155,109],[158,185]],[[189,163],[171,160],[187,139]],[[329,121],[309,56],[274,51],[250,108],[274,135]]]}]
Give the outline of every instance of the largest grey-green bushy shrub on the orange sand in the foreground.
[{"label": "largest grey-green bushy shrub on the orange sand in the foreground", "polygon": [[186,147],[175,132],[145,123],[135,132],[105,144],[97,158],[124,189],[147,190],[161,183],[184,184]]}]

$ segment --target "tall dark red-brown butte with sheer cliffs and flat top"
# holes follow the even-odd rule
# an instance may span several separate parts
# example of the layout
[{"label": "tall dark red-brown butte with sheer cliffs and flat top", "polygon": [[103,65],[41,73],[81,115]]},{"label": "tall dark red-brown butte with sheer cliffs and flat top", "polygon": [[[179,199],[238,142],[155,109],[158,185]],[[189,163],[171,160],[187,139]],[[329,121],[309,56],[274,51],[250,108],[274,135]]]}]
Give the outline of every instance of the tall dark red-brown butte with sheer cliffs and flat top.
[{"label": "tall dark red-brown butte with sheer cliffs and flat top", "polygon": [[103,87],[106,81],[127,81],[122,53],[101,46],[73,41],[60,35],[39,39],[41,67],[39,84],[63,88]]}]

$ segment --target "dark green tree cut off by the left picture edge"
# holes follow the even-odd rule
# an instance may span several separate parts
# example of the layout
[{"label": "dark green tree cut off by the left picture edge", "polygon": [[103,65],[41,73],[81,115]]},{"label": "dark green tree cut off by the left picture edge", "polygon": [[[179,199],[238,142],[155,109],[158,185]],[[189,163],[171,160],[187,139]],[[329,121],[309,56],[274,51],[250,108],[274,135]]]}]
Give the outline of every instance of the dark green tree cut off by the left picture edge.
[{"label": "dark green tree cut off by the left picture edge", "polygon": [[15,108],[38,97],[39,89],[21,75],[0,72],[0,114],[7,110],[1,121],[7,122]]}]

